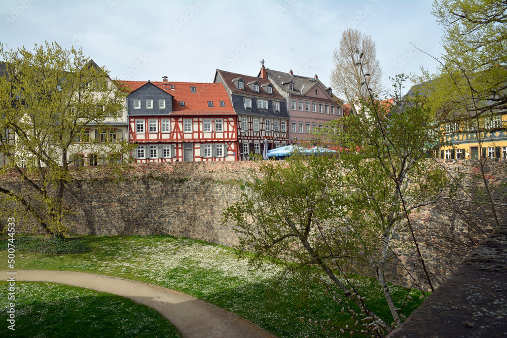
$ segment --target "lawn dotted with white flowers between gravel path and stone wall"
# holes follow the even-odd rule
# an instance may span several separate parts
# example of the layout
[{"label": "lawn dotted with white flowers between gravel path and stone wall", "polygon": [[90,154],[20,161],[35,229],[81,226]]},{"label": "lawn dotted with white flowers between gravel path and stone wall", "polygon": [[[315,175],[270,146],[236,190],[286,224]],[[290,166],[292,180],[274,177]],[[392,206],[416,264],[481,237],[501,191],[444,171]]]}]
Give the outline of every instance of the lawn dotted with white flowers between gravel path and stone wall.
[{"label": "lawn dotted with white flowers between gravel path and stone wall", "polygon": [[[16,251],[16,269],[47,269],[90,272],[147,282],[182,291],[259,324],[280,337],[332,336],[320,327],[301,322],[305,316],[336,325],[353,325],[341,306],[324,295],[313,276],[304,284],[290,278],[282,283],[280,269],[248,269],[246,259],[237,258],[234,249],[201,241],[170,236],[82,236],[90,251],[78,254],[43,254]],[[7,270],[7,251],[0,251],[0,269]],[[381,287],[375,279],[349,276],[367,298],[369,307],[391,323]],[[397,307],[408,291],[390,285]],[[403,308],[408,316],[421,303],[421,293],[412,290],[413,301]],[[314,305],[314,306],[310,306]],[[354,336],[366,336],[354,334]]]}]

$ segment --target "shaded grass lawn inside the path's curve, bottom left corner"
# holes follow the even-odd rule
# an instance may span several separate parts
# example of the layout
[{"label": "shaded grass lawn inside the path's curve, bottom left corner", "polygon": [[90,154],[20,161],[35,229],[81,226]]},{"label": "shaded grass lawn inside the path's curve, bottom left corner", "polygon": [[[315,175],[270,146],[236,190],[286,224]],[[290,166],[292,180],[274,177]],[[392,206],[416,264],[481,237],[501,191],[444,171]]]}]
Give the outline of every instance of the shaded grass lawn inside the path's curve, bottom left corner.
[{"label": "shaded grass lawn inside the path's curve, bottom left corner", "polygon": [[[8,283],[0,282],[0,318],[7,311]],[[55,283],[16,282],[15,331],[2,337],[181,337],[156,310],[129,298]],[[4,320],[5,321],[5,320]]]}]

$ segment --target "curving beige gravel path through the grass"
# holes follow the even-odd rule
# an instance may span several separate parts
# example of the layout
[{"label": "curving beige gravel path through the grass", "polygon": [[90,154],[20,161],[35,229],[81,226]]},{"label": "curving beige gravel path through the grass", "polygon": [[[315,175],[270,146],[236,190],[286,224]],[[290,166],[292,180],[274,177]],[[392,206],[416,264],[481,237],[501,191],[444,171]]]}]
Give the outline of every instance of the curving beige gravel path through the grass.
[{"label": "curving beige gravel path through the grass", "polygon": [[[9,271],[12,272],[12,271]],[[18,270],[16,281],[55,282],[118,294],[154,308],[185,337],[272,337],[246,320],[184,293],[160,286],[71,271]]]}]

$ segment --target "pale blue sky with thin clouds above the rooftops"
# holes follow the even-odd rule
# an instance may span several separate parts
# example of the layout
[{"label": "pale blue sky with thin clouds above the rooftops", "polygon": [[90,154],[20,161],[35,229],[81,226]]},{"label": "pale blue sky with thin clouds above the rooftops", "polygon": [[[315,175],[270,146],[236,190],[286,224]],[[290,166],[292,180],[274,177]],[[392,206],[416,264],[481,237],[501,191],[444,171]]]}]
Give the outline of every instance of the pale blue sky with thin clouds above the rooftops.
[{"label": "pale blue sky with thin clouds above the rooftops", "polygon": [[427,54],[443,53],[443,31],[432,2],[2,0],[0,42],[82,48],[121,80],[213,82],[217,68],[257,76],[264,59],[267,68],[317,74],[329,86],[333,51],[351,27],[376,42],[388,88],[394,74],[436,71]]}]

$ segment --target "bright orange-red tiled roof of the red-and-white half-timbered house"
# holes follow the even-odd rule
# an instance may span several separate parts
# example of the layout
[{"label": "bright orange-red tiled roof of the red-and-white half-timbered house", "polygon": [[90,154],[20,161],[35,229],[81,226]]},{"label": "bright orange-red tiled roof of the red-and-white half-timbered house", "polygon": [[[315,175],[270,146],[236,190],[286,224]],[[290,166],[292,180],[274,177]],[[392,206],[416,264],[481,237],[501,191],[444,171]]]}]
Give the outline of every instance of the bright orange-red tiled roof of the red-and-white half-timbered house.
[{"label": "bright orange-red tiled roof of the red-and-white half-timbered house", "polygon": [[[121,81],[125,86],[131,89],[131,92],[140,88],[147,81]],[[222,114],[235,115],[229,96],[221,83],[194,83],[194,82],[162,82],[152,81],[152,84],[163,89],[173,96],[172,111],[178,115],[196,115],[196,114]],[[171,85],[174,86],[171,89]],[[192,93],[190,87],[195,87],[196,92]],[[180,106],[179,102],[184,101],[185,106]],[[208,101],[213,102],[212,107],[208,107]],[[220,101],[224,101],[225,107],[220,106]]]}]

